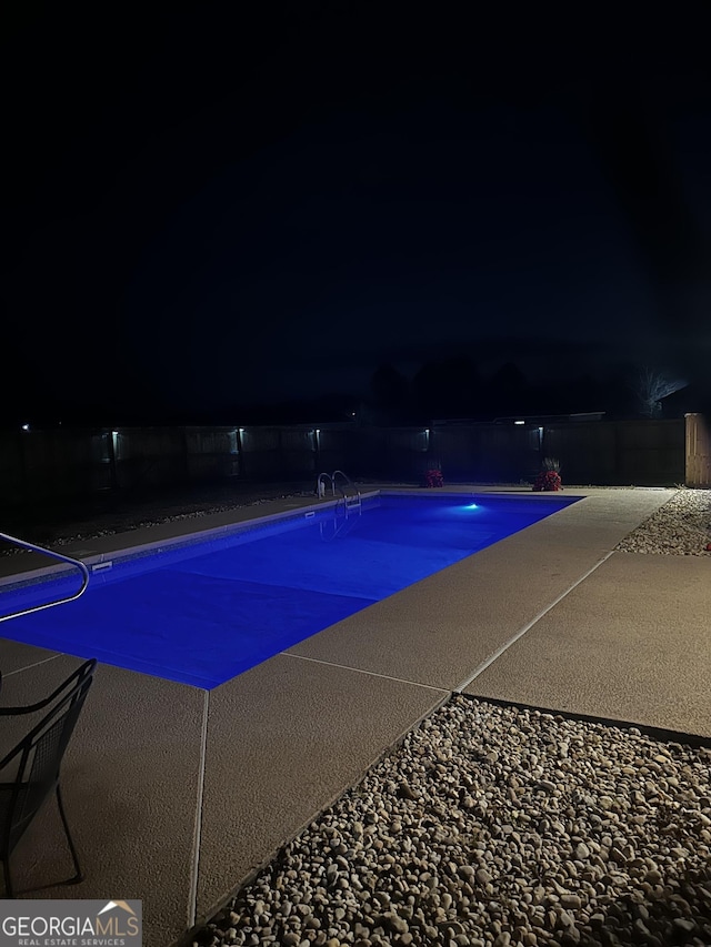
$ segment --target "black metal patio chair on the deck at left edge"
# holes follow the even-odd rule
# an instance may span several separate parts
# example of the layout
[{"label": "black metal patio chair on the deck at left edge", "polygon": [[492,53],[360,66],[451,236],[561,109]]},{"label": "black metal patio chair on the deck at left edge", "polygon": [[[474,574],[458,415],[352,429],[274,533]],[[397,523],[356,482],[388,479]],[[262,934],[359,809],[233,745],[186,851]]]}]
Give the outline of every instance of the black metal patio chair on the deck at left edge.
[{"label": "black metal patio chair on the deck at left edge", "polygon": [[93,679],[96,658],[84,662],[49,697],[22,707],[0,707],[0,716],[17,717],[50,707],[42,719],[0,759],[0,778],[9,770],[11,782],[0,782],[0,860],[4,872],[4,896],[14,897],[10,855],[29,828],[52,789],[61,816],[76,874],[68,884],[81,881],[77,849],[62,805],[59,770],[79,714]]}]

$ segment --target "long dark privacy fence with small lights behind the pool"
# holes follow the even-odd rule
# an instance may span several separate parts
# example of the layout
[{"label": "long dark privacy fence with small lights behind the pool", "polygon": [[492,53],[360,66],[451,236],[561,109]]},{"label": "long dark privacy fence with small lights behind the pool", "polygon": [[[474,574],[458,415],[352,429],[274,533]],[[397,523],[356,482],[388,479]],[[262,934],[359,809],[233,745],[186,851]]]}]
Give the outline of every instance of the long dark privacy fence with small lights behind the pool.
[{"label": "long dark privacy fence with small lights behind the pool", "polygon": [[0,432],[0,506],[200,481],[274,481],[343,470],[351,477],[532,482],[545,456],[563,484],[711,486],[709,426],[684,420],[535,426],[308,424]]}]

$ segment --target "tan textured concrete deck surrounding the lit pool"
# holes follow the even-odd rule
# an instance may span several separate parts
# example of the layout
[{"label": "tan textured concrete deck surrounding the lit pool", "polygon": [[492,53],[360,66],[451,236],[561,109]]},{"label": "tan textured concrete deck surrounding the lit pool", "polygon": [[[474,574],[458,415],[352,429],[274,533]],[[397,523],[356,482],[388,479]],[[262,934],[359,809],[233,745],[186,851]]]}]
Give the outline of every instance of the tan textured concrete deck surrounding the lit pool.
[{"label": "tan textured concrete deck surrounding the lit pool", "polygon": [[[100,665],[62,773],[86,880],[56,884],[71,863],[49,805],[12,858],[20,897],[140,898],[144,944],[168,947],[453,691],[711,737],[711,558],[613,552],[673,493],[571,488],[584,498],[211,692]],[[0,638],[0,704],[38,699],[78,663]]]}]

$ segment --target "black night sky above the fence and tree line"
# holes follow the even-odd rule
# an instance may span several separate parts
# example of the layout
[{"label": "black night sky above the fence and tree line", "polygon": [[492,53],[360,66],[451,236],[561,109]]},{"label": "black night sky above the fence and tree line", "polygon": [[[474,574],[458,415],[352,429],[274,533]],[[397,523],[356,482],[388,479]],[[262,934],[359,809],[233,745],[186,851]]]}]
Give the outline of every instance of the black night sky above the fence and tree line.
[{"label": "black night sky above the fence and tree line", "polygon": [[453,356],[709,390],[702,4],[13,7],[3,422],[239,421]]}]

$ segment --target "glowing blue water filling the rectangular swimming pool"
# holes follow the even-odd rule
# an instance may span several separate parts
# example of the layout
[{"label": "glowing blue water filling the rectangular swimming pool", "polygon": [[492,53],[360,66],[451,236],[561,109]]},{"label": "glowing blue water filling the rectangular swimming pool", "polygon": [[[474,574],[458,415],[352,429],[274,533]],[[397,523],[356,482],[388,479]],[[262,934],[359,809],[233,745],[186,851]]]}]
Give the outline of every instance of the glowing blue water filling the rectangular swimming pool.
[{"label": "glowing blue water filling the rectangular swimming pool", "polygon": [[[209,689],[577,498],[387,496],[348,523],[332,508],[301,512],[116,561],[77,601],[8,621],[0,634]],[[0,612],[76,587],[74,574],[8,590]]]}]

